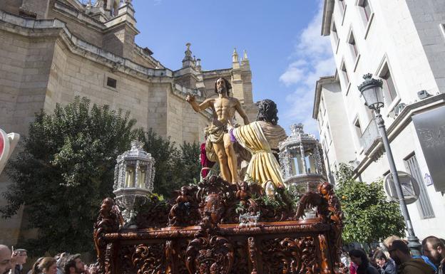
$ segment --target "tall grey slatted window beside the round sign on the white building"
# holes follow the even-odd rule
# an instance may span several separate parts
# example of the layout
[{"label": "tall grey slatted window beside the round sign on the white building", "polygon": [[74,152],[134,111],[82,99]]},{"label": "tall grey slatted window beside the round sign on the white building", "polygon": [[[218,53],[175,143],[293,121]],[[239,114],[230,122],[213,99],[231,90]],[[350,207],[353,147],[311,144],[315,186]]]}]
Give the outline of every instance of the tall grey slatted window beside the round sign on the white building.
[{"label": "tall grey slatted window beside the round sign on the white building", "polygon": [[419,183],[419,199],[416,201],[417,209],[419,210],[420,218],[434,218],[433,206],[429,201],[428,193],[424,184],[424,179],[417,163],[416,154],[411,154],[404,160],[406,171],[416,179]]}]

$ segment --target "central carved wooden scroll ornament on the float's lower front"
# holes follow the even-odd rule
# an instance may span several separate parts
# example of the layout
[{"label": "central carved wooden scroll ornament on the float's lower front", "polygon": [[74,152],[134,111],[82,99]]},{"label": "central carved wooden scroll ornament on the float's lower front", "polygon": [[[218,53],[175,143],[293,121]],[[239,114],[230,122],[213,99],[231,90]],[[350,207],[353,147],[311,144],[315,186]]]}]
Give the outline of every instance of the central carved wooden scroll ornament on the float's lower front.
[{"label": "central carved wooden scroll ornament on the float's lower front", "polygon": [[233,265],[233,246],[227,238],[195,238],[185,251],[190,274],[228,274]]}]

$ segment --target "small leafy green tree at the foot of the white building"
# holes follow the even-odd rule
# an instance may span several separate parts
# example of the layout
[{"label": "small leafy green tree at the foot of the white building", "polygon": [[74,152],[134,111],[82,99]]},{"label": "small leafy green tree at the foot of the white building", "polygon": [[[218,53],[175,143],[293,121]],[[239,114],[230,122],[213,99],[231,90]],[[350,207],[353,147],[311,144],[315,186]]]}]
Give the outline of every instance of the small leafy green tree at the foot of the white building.
[{"label": "small leafy green tree at the foot of the white building", "polygon": [[404,236],[399,204],[387,201],[382,180],[367,184],[353,179],[353,169],[340,164],[336,191],[344,213],[345,243],[374,243],[391,235]]}]

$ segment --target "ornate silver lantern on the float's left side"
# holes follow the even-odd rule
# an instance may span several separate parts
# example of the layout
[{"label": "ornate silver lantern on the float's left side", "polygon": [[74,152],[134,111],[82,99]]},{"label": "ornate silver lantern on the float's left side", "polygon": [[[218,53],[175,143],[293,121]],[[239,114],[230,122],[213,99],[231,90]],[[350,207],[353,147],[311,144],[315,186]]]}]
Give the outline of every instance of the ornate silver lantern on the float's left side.
[{"label": "ornate silver lantern on the float's left side", "polygon": [[139,141],[131,142],[131,149],[118,156],[114,169],[113,193],[116,204],[123,208],[126,227],[135,228],[135,202],[146,199],[153,191],[155,159],[143,151]]}]

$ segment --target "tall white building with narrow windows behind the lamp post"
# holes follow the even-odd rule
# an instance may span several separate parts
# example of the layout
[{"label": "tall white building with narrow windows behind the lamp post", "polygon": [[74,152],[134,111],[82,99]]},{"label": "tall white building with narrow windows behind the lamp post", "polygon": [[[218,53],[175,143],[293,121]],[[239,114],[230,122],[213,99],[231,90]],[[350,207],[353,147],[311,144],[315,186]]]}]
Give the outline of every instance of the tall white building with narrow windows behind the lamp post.
[{"label": "tall white building with narrow windows behind the lamp post", "polygon": [[313,117],[329,179],[341,162],[362,181],[389,174],[357,88],[372,73],[383,80],[382,115],[397,170],[419,181],[419,199],[408,209],[420,239],[445,238],[444,24],[444,1],[324,0],[322,36],[330,36],[337,70],[317,81]]}]

